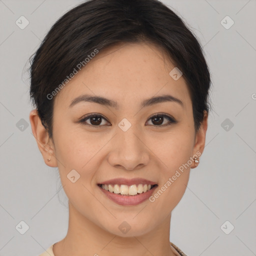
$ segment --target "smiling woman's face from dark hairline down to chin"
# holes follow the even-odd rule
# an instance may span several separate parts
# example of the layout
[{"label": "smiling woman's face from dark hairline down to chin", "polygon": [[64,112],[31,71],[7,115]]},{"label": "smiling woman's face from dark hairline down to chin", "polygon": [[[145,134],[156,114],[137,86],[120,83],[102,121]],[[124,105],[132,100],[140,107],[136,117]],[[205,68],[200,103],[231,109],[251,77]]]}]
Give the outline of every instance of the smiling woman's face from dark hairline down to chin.
[{"label": "smiling woman's face from dark hairline down to chin", "polygon": [[[206,128],[195,134],[188,88],[182,76],[169,74],[174,67],[152,44],[119,44],[99,51],[55,96],[51,147],[76,216],[115,235],[142,235],[159,226],[181,199]],[[85,94],[107,101],[86,101]],[[169,99],[148,101],[162,95]],[[84,118],[92,113],[97,116]],[[157,186],[141,202],[134,198],[142,193],[116,195],[114,201],[98,185],[113,178],[143,178]]]}]

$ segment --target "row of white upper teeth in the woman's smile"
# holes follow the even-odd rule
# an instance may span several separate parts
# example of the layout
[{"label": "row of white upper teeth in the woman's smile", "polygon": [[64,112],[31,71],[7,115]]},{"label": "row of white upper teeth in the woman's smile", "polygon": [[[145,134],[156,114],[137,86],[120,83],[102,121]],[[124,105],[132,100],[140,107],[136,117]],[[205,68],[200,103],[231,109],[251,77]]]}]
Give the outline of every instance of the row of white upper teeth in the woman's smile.
[{"label": "row of white upper teeth in the woman's smile", "polygon": [[136,185],[127,186],[123,184],[121,185],[101,184],[101,187],[109,192],[114,192],[115,194],[120,193],[125,195],[135,195],[137,193],[146,192],[151,188],[151,185],[138,184],[138,186],[136,187]]}]

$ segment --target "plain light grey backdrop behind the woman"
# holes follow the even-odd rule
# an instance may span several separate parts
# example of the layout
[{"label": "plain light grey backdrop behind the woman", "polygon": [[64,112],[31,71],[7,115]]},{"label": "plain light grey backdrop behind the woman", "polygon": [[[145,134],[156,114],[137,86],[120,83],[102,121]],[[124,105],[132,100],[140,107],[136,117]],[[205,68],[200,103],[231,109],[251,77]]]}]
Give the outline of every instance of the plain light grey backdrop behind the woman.
[{"label": "plain light grey backdrop behind the woman", "polygon": [[[38,255],[67,231],[57,169],[44,164],[31,133],[25,70],[51,25],[79,2],[0,0],[0,255]],[[256,255],[256,0],[163,2],[199,38],[213,83],[206,146],[172,211],[170,241],[189,256]],[[24,29],[15,24],[21,15]]]}]

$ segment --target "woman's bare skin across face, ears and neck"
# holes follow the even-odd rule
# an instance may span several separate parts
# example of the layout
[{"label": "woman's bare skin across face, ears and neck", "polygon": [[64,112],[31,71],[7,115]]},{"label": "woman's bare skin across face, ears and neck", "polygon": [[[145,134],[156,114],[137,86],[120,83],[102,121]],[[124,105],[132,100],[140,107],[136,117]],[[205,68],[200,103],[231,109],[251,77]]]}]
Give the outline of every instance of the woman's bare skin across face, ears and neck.
[{"label": "woman's bare skin across face, ears and neck", "polygon": [[[154,202],[122,206],[97,186],[110,178],[142,177],[157,183],[157,191],[179,166],[202,153],[207,113],[195,133],[188,88],[182,76],[174,80],[169,75],[173,67],[151,43],[120,43],[100,51],[54,96],[53,140],[36,110],[30,112],[45,164],[58,167],[69,199],[68,231],[54,245],[55,256],[178,255],[169,245],[171,211],[184,194],[194,162]],[[94,102],[69,107],[85,93],[114,100],[119,107]],[[162,94],[177,97],[183,106],[161,102],[140,107],[142,100]],[[90,119],[88,125],[77,122],[89,113],[104,116],[101,126],[93,127]],[[170,115],[177,123],[161,126],[168,123],[164,117],[162,124],[155,125],[151,117],[156,113]],[[125,132],[118,127],[123,118],[131,123]],[[107,123],[111,125],[103,126]],[[75,183],[66,177],[72,169],[80,174]],[[125,234],[118,228],[123,221],[131,227]]]}]

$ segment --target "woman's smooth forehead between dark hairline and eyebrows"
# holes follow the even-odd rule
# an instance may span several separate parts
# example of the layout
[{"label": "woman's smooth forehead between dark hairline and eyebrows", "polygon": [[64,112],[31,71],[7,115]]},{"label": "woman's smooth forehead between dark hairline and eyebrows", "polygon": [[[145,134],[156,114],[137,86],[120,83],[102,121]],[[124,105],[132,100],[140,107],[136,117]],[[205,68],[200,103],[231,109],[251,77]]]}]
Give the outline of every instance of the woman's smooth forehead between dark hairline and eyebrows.
[{"label": "woman's smooth forehead between dark hairline and eyebrows", "polygon": [[117,101],[118,105],[130,105],[131,100],[140,102],[168,93],[189,105],[184,78],[174,80],[169,75],[174,67],[167,54],[152,43],[119,43],[90,59],[57,93],[54,107],[68,106],[81,94],[104,96]]}]

